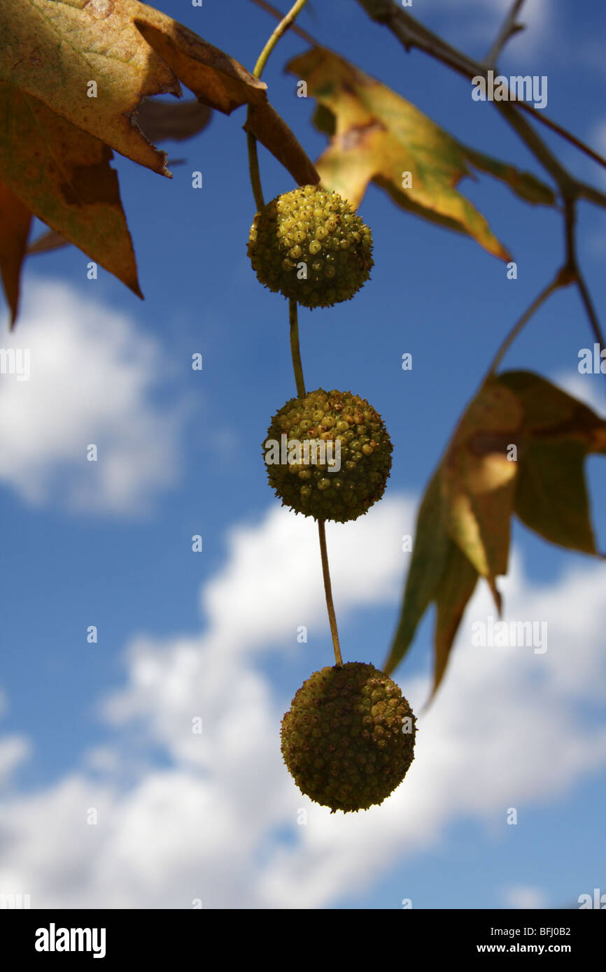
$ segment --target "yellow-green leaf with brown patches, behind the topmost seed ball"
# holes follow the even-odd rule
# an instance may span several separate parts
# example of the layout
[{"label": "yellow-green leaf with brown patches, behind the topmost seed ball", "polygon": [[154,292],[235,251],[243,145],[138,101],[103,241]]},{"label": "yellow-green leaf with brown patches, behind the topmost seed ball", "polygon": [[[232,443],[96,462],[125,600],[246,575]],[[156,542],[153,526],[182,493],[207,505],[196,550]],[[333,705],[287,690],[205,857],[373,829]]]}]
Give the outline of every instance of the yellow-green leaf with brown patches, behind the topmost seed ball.
[{"label": "yellow-green leaf with brown patches, behind the topmost seed ball", "polygon": [[[369,183],[403,209],[476,239],[502,260],[507,250],[486,220],[456,187],[475,165],[503,180],[529,202],[553,204],[553,192],[534,176],[483,156],[389,87],[325,48],[313,48],[288,64],[319,104],[315,123],[331,144],[316,167],[322,184],[357,207]],[[410,173],[410,185],[405,183]],[[405,188],[406,186],[406,188]]]}]

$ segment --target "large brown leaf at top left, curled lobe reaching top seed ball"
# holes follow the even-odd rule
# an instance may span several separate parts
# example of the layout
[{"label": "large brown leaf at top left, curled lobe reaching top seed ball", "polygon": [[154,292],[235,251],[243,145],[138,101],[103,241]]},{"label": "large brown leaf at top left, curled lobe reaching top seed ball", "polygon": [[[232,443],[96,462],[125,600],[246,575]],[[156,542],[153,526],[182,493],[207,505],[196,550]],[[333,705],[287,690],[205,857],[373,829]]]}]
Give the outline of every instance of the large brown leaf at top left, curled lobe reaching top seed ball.
[{"label": "large brown leaf at top left, curled lobe reaching top seed ball", "polygon": [[[0,3],[0,179],[55,233],[139,295],[109,160],[114,149],[169,175],[166,155],[139,127],[136,109],[154,94],[180,96],[177,74],[207,106],[228,114],[252,106],[251,128],[260,141],[298,182],[318,181],[269,106],[267,86],[172,17],[138,0]],[[16,238],[14,265],[20,265],[19,246]],[[15,306],[16,295],[10,299]]]}]

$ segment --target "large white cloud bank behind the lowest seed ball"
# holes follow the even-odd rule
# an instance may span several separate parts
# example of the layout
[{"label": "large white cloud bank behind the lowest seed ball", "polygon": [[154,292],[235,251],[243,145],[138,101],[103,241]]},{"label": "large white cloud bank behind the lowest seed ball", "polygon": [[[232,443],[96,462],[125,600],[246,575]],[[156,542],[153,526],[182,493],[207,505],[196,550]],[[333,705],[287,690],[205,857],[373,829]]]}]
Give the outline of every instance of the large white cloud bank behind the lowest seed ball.
[{"label": "large white cloud bank behind the lowest seed ball", "polygon": [[[410,501],[391,496],[331,531],[341,618],[387,598],[395,608],[400,538],[411,529]],[[586,716],[606,699],[606,565],[589,563],[543,588],[515,558],[503,585],[506,617],[547,620],[547,652],[473,647],[472,621],[493,612],[480,590],[428,712],[420,712],[427,679],[403,684],[418,715],[406,781],[366,813],[331,815],[311,804],[280,755],[288,699],[276,696],[260,662],[276,651],[313,654],[312,639],[297,645],[295,632],[301,623],[326,630],[318,571],[315,529],[301,517],[271,507],[256,526],[232,532],[228,562],[202,596],[206,631],[140,639],[127,653],[124,686],[104,703],[122,734],[113,748],[160,747],[168,768],[148,765],[118,785],[105,753],[102,785],[82,772],[5,800],[0,890],[27,891],[34,907],[188,908],[195,897],[210,908],[324,907],[368,894],[455,821],[498,838],[510,832],[508,808],[523,819],[539,805],[547,815],[552,801],[604,768],[606,726]],[[196,716],[201,735],[192,731]],[[90,807],[99,809],[97,826],[84,822]],[[308,814],[301,826],[300,808]],[[414,897],[406,886],[405,896]]]}]

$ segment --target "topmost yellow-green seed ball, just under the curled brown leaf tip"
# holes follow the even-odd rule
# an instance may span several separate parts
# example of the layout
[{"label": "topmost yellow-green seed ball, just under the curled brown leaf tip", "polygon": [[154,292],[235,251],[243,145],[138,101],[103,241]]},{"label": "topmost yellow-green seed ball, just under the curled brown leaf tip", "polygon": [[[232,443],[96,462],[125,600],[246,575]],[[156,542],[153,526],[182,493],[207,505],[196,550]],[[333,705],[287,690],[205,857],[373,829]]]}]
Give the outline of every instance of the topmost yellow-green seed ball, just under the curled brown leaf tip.
[{"label": "topmost yellow-green seed ball, just under the curled brown leaf tip", "polygon": [[338,192],[303,186],[257,213],[248,256],[262,284],[305,307],[332,307],[363,286],[373,236]]}]

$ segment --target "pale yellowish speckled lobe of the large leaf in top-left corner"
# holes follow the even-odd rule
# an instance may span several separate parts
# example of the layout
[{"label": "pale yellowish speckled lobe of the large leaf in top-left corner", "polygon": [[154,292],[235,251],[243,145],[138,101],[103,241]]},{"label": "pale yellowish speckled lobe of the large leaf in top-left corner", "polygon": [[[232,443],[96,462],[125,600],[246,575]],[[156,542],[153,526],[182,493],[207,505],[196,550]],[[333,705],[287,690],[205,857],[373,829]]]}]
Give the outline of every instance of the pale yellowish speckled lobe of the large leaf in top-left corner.
[{"label": "pale yellowish speckled lobe of the large leaf in top-left corner", "polygon": [[[134,25],[134,17],[150,9],[136,0],[3,2],[0,81],[123,156],[167,174],[165,154],[132,121],[141,98],[181,93],[170,67]],[[97,85],[96,97],[89,97],[89,82]]]}]

